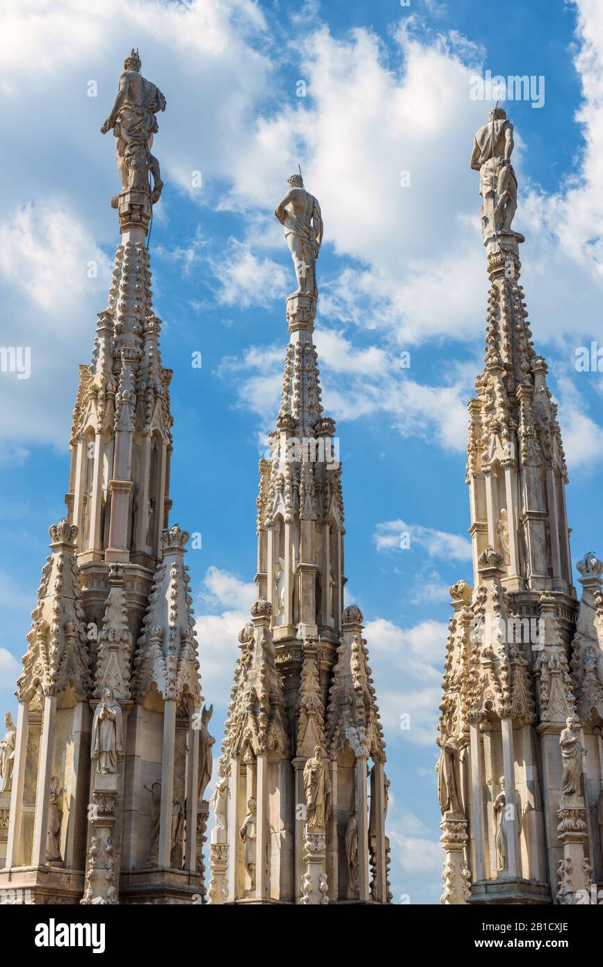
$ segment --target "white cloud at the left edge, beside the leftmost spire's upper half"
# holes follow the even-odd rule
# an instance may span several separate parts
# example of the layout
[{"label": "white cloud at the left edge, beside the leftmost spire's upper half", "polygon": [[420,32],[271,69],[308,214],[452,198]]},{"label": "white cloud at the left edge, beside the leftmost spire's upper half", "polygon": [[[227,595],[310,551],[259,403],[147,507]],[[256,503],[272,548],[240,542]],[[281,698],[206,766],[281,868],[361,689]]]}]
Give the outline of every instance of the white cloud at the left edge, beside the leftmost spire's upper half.
[{"label": "white cloud at the left edge, beside the leftmost spire's upper half", "polygon": [[31,359],[29,378],[0,375],[4,462],[22,464],[30,442],[65,446],[77,366],[90,359],[109,281],[106,255],[67,209],[26,206],[0,222],[3,345]]}]

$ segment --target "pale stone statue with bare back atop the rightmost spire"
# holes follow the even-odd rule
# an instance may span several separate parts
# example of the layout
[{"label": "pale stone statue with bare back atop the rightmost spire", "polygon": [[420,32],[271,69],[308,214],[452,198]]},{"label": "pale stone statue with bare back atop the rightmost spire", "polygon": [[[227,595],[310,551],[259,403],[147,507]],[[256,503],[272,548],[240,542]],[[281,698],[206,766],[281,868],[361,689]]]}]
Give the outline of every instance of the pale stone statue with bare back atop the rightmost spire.
[{"label": "pale stone statue with bare back atop the rightmost spire", "polygon": [[484,244],[501,233],[514,234],[510,229],[517,209],[517,179],[511,165],[512,152],[513,125],[502,107],[493,107],[486,124],[475,134],[471,160],[474,171],[479,171]]}]

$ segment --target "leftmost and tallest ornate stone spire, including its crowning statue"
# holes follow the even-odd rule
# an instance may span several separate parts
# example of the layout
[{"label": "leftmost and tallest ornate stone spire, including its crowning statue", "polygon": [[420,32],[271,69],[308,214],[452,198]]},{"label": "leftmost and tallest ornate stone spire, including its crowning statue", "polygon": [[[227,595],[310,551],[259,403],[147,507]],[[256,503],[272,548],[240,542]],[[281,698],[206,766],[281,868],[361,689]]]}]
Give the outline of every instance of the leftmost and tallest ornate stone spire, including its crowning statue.
[{"label": "leftmost and tallest ornate stone spire, including its crowning statue", "polygon": [[168,519],[172,373],[161,365],[146,244],[165,99],[140,66],[132,50],[102,126],[117,139],[122,190],[111,205],[122,242],[92,362],[79,370],[68,517],[50,528],[17,683],[0,888],[22,882],[36,903],[205,894],[213,739],[201,710],[188,535]]}]

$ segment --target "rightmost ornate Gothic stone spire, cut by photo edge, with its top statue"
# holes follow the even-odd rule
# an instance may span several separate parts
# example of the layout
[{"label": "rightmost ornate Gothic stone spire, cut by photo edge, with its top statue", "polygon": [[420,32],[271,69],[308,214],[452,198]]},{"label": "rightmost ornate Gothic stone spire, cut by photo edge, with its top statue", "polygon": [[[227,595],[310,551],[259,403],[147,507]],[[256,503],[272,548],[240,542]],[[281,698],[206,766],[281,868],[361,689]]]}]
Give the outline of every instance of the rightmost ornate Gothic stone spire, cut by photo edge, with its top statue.
[{"label": "rightmost ornate Gothic stone spire, cut by photo edge, with its top statue", "polygon": [[512,151],[513,126],[493,108],[472,156],[490,292],[485,366],[469,403],[474,589],[450,588],[440,706],[443,903],[589,902],[600,863],[586,821],[603,824],[600,568],[594,555],[579,565],[576,630],[567,470],[519,284]]}]

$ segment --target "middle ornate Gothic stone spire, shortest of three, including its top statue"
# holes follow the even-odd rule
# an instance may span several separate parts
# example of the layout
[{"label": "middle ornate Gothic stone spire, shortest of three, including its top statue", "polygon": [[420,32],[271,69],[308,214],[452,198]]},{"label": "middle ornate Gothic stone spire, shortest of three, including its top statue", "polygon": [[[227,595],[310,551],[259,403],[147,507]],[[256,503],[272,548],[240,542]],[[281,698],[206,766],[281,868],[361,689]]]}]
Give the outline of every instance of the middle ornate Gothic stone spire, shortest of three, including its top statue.
[{"label": "middle ornate Gothic stone spire, shortest of three, including its top statue", "polygon": [[[343,501],[335,425],[312,340],[320,206],[292,175],[275,210],[298,289],[271,459],[260,461],[258,601],[240,635],[212,834],[213,903],[389,901],[387,778],[356,607],[343,610]],[[367,761],[371,819],[368,813]],[[220,786],[221,789],[221,786]],[[228,866],[228,889],[225,889]]]}]

